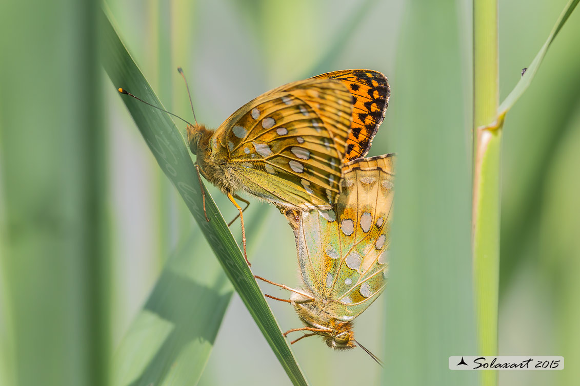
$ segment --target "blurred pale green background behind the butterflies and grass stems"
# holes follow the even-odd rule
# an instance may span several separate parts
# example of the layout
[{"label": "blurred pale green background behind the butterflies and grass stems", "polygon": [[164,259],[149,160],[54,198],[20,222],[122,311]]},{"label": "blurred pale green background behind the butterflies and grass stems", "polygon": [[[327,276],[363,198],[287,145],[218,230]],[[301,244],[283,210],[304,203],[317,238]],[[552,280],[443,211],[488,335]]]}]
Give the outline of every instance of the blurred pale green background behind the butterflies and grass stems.
[{"label": "blurred pale green background behind the butterflies and grass stems", "polygon": [[[499,2],[500,100],[564,5]],[[400,155],[390,284],[356,323],[357,340],[385,358],[385,373],[362,350],[332,352],[317,339],[293,351],[313,385],[474,384],[477,378],[447,370],[447,356],[476,354],[471,3],[111,0],[107,6],[164,106],[193,119],[176,71],[181,66],[197,119],[209,127],[272,87],[318,73],[371,68],[389,77],[391,102],[370,155]],[[133,370],[119,369],[118,358],[139,354],[124,351],[123,343],[136,320],[146,323],[140,310],[162,269],[171,263],[179,273],[179,256],[188,253],[220,269],[115,90],[124,85],[112,84],[100,65],[107,54],[100,7],[73,0],[0,4],[0,385],[100,385],[109,376],[119,386],[147,385],[136,383]],[[567,367],[502,372],[501,385],[571,385],[580,378],[578,46],[576,12],[506,117],[502,164],[500,354],[563,355]],[[209,189],[224,218],[233,218],[227,198]],[[286,220],[255,200],[246,218],[254,225],[253,272],[297,285]],[[240,240],[238,227],[231,229]],[[198,384],[290,384],[239,297],[234,293],[228,306],[231,288],[215,280],[216,309],[227,311],[221,326],[207,326],[206,349],[213,350]],[[168,302],[191,306],[187,296],[160,300]],[[288,304],[271,307],[282,329],[300,326]],[[195,312],[189,318],[205,320]],[[195,381],[169,377],[162,384]]]}]

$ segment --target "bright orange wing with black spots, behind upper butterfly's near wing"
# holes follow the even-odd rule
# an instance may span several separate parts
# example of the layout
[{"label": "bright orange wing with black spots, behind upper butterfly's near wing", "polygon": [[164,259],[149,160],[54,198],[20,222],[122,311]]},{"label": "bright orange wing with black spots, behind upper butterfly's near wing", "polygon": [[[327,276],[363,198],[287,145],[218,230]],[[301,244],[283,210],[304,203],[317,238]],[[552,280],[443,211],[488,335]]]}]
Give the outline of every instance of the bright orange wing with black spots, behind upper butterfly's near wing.
[{"label": "bright orange wing with black spots, behind upper butterfly's near wing", "polygon": [[370,69],[347,69],[323,73],[314,78],[339,80],[353,95],[353,123],[345,160],[364,157],[389,106],[390,88],[386,76]]}]

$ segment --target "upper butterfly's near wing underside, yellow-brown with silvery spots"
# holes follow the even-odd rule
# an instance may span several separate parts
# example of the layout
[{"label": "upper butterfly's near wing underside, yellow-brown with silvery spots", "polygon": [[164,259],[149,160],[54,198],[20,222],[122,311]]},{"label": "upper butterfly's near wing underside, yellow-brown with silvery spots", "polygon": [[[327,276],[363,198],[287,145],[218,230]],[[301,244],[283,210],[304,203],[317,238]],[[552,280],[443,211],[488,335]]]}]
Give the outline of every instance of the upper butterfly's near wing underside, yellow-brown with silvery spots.
[{"label": "upper butterfly's near wing underside, yellow-brown with silvery spots", "polygon": [[289,83],[231,115],[212,138],[212,156],[227,164],[238,185],[265,200],[329,207],[340,190],[351,113],[350,93],[340,82]]}]

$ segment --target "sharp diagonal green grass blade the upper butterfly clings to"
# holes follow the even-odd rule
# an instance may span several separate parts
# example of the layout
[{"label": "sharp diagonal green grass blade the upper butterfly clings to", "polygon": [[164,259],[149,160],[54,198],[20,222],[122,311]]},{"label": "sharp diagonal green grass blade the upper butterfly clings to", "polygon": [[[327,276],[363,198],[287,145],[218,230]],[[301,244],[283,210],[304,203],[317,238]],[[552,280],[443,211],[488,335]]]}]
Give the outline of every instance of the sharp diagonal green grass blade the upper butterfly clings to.
[{"label": "sharp diagonal green grass blade the upper butterfly clings to", "polygon": [[[102,19],[105,36],[103,47],[106,49],[103,53],[103,64],[115,87],[126,88],[143,100],[161,106],[161,102],[126,51],[108,17],[103,14]],[[117,91],[111,90],[111,92]],[[244,262],[240,248],[208,192],[206,192],[206,209],[211,221],[206,222],[204,218],[197,174],[183,135],[165,113],[132,98],[123,98],[123,101],[161,169],[183,197],[235,290],[240,294],[288,377],[295,385],[306,385],[306,379],[296,363],[287,340],[282,337],[278,323]],[[205,256],[198,256],[198,258],[205,258]],[[243,348],[240,348],[240,351],[242,350]]]}]

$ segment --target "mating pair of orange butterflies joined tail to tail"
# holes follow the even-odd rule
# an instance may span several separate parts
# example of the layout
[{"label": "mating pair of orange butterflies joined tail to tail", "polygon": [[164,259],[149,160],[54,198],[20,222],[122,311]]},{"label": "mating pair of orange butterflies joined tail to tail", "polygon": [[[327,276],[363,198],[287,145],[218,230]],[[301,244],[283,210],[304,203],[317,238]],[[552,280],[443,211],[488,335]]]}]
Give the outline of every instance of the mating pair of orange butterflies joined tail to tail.
[{"label": "mating pair of orange butterflies joined tail to tail", "polygon": [[[333,348],[355,347],[351,320],[384,287],[381,253],[387,245],[392,159],[359,157],[367,154],[388,101],[382,73],[336,71],[268,91],[216,130],[197,122],[187,126],[198,172],[239,211],[247,262],[243,209],[235,198],[249,203],[235,192],[269,201],[287,215],[307,288],[291,290],[288,302],[306,325],[298,330],[325,336]],[[322,223],[314,226],[317,219]],[[365,249],[371,244],[372,253]]]}]

